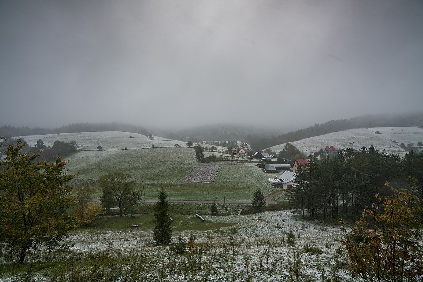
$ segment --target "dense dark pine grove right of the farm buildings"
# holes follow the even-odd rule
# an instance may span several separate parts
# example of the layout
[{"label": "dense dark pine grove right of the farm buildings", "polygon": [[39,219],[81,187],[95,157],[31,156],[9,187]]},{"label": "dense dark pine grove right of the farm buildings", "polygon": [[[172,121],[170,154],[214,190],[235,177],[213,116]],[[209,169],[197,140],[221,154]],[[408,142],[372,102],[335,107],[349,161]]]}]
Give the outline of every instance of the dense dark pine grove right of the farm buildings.
[{"label": "dense dark pine grove right of the farm buildings", "polygon": [[[334,158],[309,158],[294,177],[291,201],[310,219],[356,219],[370,206],[376,194],[389,195],[386,182],[398,183],[415,177],[422,196],[423,152],[397,155],[373,146],[359,151],[346,149]],[[419,193],[419,194],[418,194]]]}]

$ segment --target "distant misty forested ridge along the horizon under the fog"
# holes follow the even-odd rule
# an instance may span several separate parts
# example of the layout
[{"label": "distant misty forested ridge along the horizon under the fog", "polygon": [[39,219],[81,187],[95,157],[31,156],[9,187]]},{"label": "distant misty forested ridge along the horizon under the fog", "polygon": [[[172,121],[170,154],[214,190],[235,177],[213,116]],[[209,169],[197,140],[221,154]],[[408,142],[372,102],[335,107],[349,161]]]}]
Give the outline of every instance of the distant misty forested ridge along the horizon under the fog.
[{"label": "distant misty forested ridge along the horizon under the fog", "polygon": [[[287,142],[294,142],[304,138],[323,135],[331,132],[343,131],[354,128],[369,127],[397,127],[397,126],[423,126],[423,113],[411,113],[402,115],[364,115],[350,119],[330,120],[321,124],[314,124],[303,129],[281,133],[281,128],[286,127],[288,121],[275,122],[271,127],[214,124],[197,126],[182,130],[151,130],[154,135],[163,136],[175,140],[186,140],[193,142],[203,140],[237,140],[244,141],[251,145],[253,150],[260,151],[271,146]],[[148,131],[140,126],[122,123],[74,123],[54,129],[14,127],[4,125],[0,127],[1,136],[22,136],[41,135],[67,132],[88,132],[88,131],[126,131],[140,134],[147,134]]]}]

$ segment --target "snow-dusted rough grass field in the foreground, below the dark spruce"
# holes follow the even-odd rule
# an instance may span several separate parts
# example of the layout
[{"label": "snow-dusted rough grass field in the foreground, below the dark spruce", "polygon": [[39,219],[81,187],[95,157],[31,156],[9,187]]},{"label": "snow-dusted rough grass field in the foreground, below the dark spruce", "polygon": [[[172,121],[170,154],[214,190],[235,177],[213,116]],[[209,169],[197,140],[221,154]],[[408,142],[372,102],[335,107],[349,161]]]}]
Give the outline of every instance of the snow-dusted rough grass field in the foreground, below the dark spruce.
[{"label": "snow-dusted rough grass field in the foreground, below the dark spruce", "polygon": [[[207,263],[214,271],[207,274],[207,281],[289,281],[294,276],[294,262],[299,261],[298,279],[294,281],[323,281],[338,277],[339,281],[352,281],[350,273],[343,268],[339,253],[341,232],[338,226],[324,226],[310,221],[298,221],[292,210],[264,212],[257,215],[206,216],[214,222],[236,223],[232,227],[211,231],[173,232],[172,240],[177,242],[181,235],[188,240],[190,233],[196,244],[205,244],[206,249],[197,261]],[[193,218],[193,220],[196,220]],[[175,222],[174,224],[177,224]],[[293,246],[287,242],[287,234],[294,235]],[[143,252],[153,256],[164,256],[167,260],[170,249],[159,249],[152,245],[152,230],[74,232],[67,238],[70,249],[90,252],[115,249],[121,255]],[[307,252],[306,247],[315,248]],[[197,255],[196,255],[197,256]],[[153,259],[152,259],[153,260]],[[162,265],[157,265],[157,268]],[[150,270],[151,271],[151,270]],[[156,270],[158,271],[158,270]],[[167,270],[164,270],[165,272]],[[155,273],[144,273],[153,277]],[[192,276],[194,281],[204,281],[204,273]],[[185,281],[180,275],[167,273],[163,281]],[[354,279],[353,281],[361,281]]]}]

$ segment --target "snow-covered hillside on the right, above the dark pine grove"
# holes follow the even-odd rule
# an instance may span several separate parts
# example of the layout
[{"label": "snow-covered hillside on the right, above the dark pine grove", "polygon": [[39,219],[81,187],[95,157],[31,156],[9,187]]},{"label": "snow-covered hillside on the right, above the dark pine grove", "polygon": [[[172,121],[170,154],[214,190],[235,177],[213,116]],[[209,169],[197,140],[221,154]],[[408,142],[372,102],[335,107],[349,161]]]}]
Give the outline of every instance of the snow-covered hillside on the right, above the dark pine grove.
[{"label": "snow-covered hillside on the right, above the dark pine grove", "polygon": [[[377,130],[379,134],[375,133]],[[393,141],[396,140],[397,143]],[[417,142],[423,141],[423,129],[418,127],[384,127],[384,128],[357,128],[344,131],[328,133],[314,136],[295,142],[290,142],[306,155],[312,154],[320,149],[325,149],[327,145],[337,146],[339,148],[354,148],[359,150],[361,147],[370,147],[373,145],[376,149],[386,150],[388,153],[394,153],[404,156],[407,152],[399,147],[400,143],[417,145]],[[285,144],[271,147],[276,153],[283,150]]]}]

